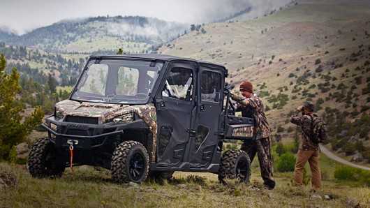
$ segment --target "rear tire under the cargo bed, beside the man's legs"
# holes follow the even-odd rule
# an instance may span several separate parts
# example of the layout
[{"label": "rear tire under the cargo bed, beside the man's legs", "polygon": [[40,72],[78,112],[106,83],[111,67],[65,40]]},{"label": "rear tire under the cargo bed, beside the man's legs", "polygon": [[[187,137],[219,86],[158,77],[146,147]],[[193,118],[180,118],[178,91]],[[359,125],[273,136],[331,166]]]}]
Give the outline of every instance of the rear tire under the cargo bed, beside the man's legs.
[{"label": "rear tire under the cargo bed, beside the man's legs", "polygon": [[245,151],[228,150],[221,157],[219,181],[228,184],[226,179],[237,179],[239,183],[249,183],[251,160]]}]

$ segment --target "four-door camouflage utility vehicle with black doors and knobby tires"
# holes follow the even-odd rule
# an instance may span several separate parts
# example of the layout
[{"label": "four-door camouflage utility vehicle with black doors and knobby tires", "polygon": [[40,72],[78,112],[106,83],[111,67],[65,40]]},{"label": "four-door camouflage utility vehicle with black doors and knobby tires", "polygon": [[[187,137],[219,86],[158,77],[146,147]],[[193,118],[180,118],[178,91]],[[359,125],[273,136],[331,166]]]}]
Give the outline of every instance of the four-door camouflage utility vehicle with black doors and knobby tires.
[{"label": "four-door camouflage utility vehicle with black doors and knobby tires", "polygon": [[253,140],[254,120],[235,116],[227,70],[161,54],[92,56],[70,98],[42,124],[48,137],[31,147],[33,177],[93,165],[117,182],[213,172],[249,181],[249,157],[225,140]]}]

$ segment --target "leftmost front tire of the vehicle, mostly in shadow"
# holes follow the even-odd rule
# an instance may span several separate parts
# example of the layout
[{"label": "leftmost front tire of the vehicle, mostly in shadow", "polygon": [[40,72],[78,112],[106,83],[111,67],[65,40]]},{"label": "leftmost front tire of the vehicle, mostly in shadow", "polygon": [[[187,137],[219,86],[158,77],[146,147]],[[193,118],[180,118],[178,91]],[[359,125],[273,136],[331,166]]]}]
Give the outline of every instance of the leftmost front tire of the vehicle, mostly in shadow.
[{"label": "leftmost front tire of the vehicle, mostly in shadow", "polygon": [[48,138],[34,142],[29,152],[27,168],[32,177],[61,177],[65,166],[57,165],[54,144]]}]

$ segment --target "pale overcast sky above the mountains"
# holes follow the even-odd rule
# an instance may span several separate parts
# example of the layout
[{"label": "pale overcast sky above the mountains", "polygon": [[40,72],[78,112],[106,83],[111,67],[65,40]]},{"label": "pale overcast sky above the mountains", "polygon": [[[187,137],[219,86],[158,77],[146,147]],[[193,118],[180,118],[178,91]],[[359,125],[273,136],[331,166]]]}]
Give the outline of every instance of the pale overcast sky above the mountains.
[{"label": "pale overcast sky above the mountains", "polygon": [[290,0],[0,0],[0,27],[16,34],[60,20],[98,15],[141,15],[183,23],[207,23],[244,10]]}]

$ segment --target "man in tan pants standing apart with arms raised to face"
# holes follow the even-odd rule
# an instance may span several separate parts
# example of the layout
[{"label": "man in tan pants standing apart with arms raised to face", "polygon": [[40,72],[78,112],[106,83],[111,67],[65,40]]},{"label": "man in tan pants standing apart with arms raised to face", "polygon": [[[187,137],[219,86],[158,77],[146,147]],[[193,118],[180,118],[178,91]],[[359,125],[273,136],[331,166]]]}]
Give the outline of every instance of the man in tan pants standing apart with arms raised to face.
[{"label": "man in tan pants standing apart with arms raised to face", "polygon": [[[312,173],[312,188],[318,191],[321,188],[321,173],[319,165],[320,149],[318,143],[313,142],[313,122],[319,119],[317,114],[313,113],[312,103],[305,102],[304,105],[297,108],[297,112],[290,118],[290,122],[302,128],[302,140],[297,153],[295,163],[294,180],[295,184],[303,186],[303,170],[306,162],[309,162]],[[300,114],[301,113],[301,114]]]}]

